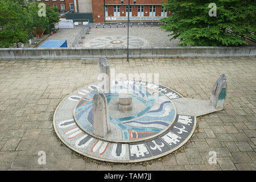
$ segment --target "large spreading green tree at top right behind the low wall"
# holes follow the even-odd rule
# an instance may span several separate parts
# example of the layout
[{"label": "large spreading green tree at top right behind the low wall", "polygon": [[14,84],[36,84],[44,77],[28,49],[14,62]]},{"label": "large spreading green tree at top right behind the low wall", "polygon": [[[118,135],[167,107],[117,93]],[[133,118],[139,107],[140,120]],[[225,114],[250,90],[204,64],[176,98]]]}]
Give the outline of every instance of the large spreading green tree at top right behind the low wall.
[{"label": "large spreading green tree at top right behind the low wall", "polygon": [[[247,44],[243,35],[255,38],[253,0],[164,0],[164,9],[173,14],[162,28],[179,39],[180,46],[239,46]],[[216,3],[217,16],[209,16],[210,3]],[[233,32],[227,31],[230,28]]]}]

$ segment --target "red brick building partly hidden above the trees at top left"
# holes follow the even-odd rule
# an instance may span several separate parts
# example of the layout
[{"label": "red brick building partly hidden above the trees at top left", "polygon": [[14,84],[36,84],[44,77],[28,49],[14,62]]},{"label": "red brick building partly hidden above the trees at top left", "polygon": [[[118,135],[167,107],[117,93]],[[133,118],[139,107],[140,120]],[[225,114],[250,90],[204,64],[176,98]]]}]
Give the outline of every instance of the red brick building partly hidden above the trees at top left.
[{"label": "red brick building partly hidden above the trees at top left", "polygon": [[37,2],[46,3],[48,6],[55,6],[59,10],[73,10],[79,12],[79,0],[36,0]]}]

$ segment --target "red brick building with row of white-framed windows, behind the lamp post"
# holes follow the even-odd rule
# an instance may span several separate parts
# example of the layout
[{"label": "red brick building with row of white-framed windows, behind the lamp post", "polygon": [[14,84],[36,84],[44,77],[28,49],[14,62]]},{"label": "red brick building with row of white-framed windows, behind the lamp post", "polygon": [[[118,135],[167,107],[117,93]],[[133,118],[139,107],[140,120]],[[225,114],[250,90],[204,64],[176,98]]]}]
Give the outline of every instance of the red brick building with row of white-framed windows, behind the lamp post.
[{"label": "red brick building with row of white-framed windows, behind the lamp post", "polygon": [[[125,6],[128,5],[128,0],[124,0],[124,6],[121,5],[120,0],[91,1],[94,23],[127,21],[128,11],[130,11],[129,19],[131,21],[157,21],[171,15],[170,11],[163,10],[163,0],[137,0],[136,5],[132,6],[130,10]],[[130,4],[133,5],[133,0],[130,0]]]}]

